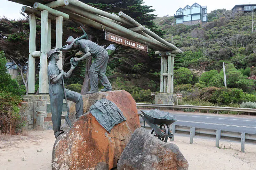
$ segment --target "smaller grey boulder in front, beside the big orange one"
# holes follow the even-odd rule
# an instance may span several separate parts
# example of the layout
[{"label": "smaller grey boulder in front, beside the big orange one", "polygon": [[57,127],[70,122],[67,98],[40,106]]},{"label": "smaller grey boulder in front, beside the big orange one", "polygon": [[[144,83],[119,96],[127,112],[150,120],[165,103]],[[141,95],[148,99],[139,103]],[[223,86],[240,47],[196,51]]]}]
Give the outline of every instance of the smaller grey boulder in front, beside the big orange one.
[{"label": "smaller grey boulder in front, beside the big orange one", "polygon": [[188,161],[175,144],[165,143],[138,128],[118,163],[118,170],[187,170]]}]

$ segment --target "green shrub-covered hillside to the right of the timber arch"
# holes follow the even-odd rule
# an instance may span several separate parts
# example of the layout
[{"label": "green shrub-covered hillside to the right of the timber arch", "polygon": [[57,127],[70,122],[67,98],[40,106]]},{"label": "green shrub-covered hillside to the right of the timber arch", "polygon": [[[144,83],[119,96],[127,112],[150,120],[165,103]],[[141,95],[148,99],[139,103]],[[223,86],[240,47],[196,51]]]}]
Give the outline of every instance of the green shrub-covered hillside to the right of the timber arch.
[{"label": "green shrub-covered hillside to the right of the timber arch", "polygon": [[[173,35],[173,44],[183,51],[174,59],[176,92],[185,95],[183,104],[239,106],[242,101],[255,101],[255,82],[248,79],[256,75],[252,12],[232,16],[232,11],[223,9],[207,16],[204,26],[172,26],[174,17],[155,19],[165,32],[164,39],[171,42]],[[228,89],[224,88],[222,62]]]}]

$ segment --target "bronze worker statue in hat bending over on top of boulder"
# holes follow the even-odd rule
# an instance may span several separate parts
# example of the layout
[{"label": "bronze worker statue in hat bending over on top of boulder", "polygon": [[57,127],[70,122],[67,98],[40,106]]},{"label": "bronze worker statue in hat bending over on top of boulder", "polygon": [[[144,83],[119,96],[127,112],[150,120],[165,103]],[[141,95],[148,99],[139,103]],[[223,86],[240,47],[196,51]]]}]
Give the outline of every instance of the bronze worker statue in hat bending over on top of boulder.
[{"label": "bronze worker statue in hat bending over on top of boulder", "polygon": [[[76,39],[74,39],[72,36],[69,36],[68,40],[66,41],[68,43],[66,48],[62,48],[60,50],[66,52],[79,48],[79,50],[82,51],[84,55],[80,58],[74,58],[73,61],[75,62],[84,60],[90,56],[94,57],[94,62],[92,63],[92,66],[89,70],[91,90],[87,92],[87,94],[98,92],[98,78],[100,79],[100,83],[104,86],[104,88],[100,90],[101,92],[112,91],[112,86],[106,76],[108,63],[107,50],[90,40],[81,39],[76,41]],[[58,49],[59,48],[56,48],[56,50]]]}]

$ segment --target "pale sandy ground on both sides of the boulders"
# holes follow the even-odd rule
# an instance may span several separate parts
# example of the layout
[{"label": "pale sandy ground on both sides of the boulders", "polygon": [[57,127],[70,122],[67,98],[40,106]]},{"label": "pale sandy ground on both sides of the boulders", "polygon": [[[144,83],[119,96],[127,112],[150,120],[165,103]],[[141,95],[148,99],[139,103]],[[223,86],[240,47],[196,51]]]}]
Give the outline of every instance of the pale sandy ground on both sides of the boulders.
[{"label": "pale sandy ground on both sides of the boulders", "polygon": [[[28,131],[27,136],[0,135],[1,170],[50,170],[53,131]],[[241,152],[239,142],[220,140],[222,148],[215,147],[213,138],[195,137],[189,144],[189,136],[175,134],[174,142],[189,163],[189,170],[255,170],[256,144],[245,144]],[[231,149],[229,148],[231,144]]]}]

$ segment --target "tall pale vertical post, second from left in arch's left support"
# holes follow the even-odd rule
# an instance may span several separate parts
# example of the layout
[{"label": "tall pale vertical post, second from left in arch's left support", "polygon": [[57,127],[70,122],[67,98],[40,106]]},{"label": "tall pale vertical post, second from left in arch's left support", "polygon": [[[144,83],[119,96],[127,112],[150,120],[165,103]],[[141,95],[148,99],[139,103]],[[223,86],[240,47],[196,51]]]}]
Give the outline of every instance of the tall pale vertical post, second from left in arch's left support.
[{"label": "tall pale vertical post, second from left in arch's left support", "polygon": [[48,11],[41,11],[41,52],[39,71],[39,93],[46,94],[47,82],[47,39],[48,39]]}]

